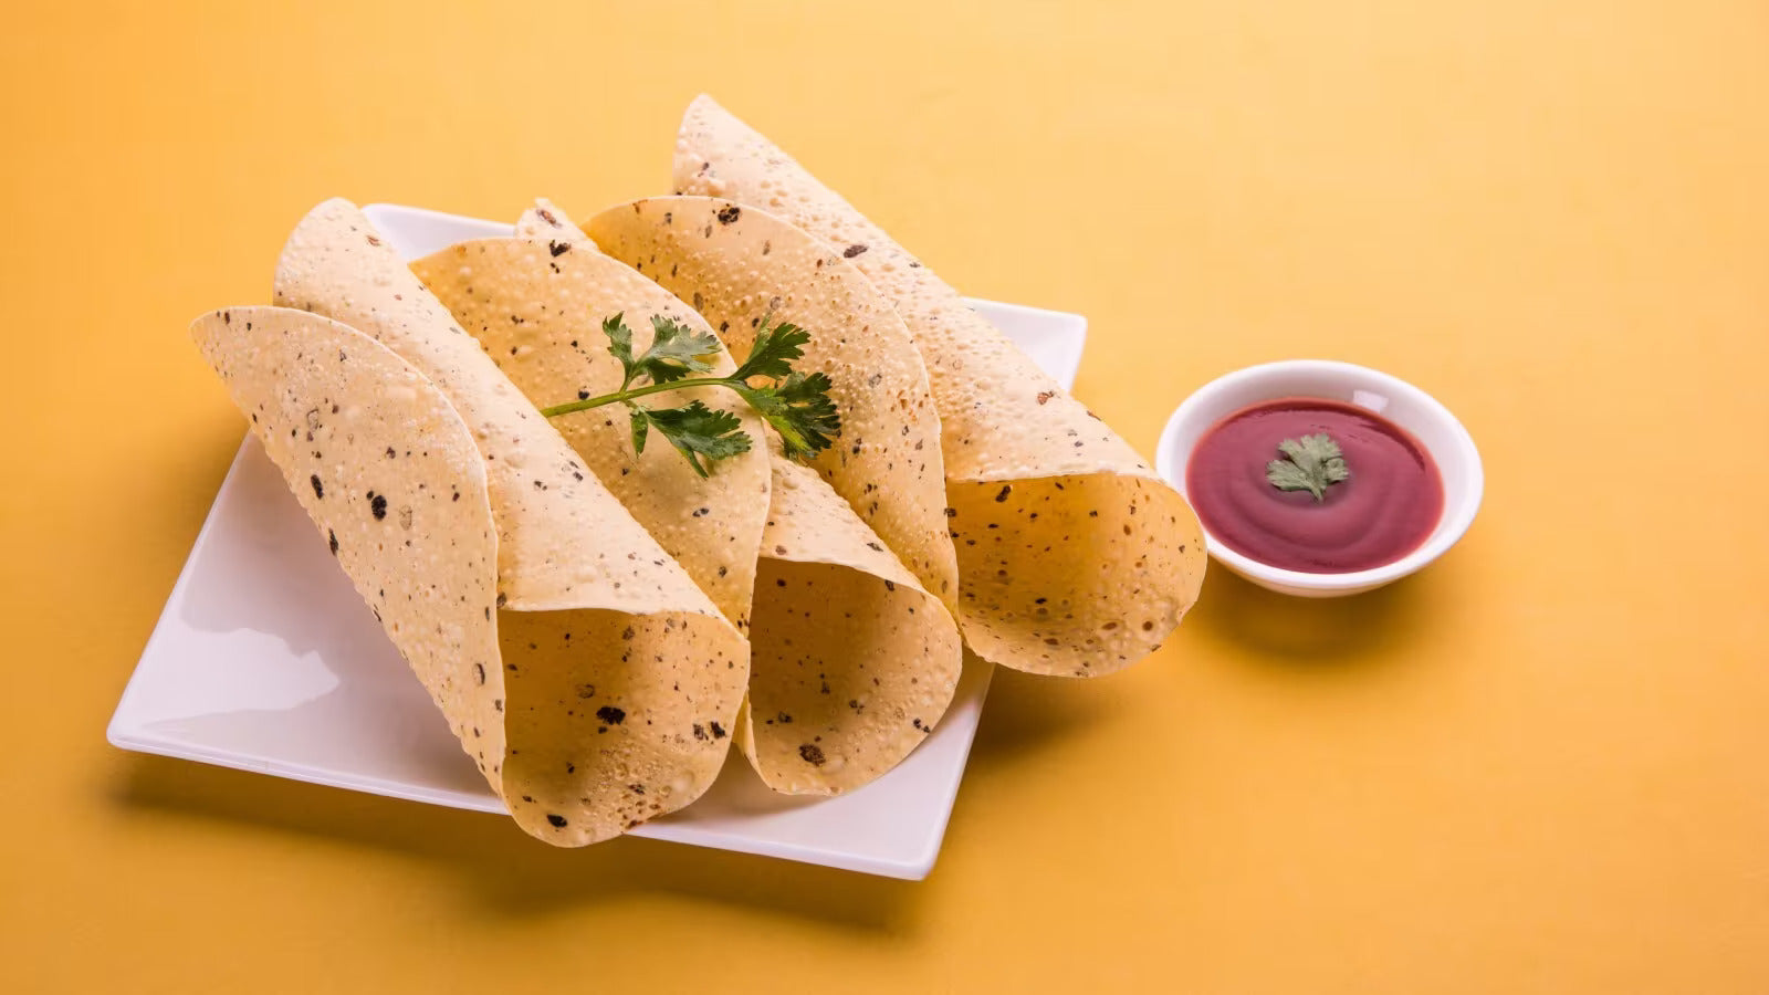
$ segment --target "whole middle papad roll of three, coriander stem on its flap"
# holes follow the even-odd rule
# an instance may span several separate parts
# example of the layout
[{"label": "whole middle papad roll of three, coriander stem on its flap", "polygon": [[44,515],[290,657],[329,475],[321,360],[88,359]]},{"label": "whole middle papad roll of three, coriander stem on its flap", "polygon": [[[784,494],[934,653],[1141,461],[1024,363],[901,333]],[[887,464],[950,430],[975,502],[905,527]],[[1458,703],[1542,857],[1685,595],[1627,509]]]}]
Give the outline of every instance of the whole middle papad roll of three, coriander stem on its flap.
[{"label": "whole middle papad roll of three, coriander stem on its flap", "polygon": [[[624,315],[635,354],[651,345],[653,315],[711,331],[667,290],[598,253],[557,209],[543,204],[517,230],[534,237],[463,243],[412,269],[536,405],[621,388],[601,329],[610,315]],[[720,352],[709,375],[732,370]],[[953,621],[814,471],[768,453],[771,430],[736,395],[688,388],[644,404],[693,398],[741,413],[755,441],[704,480],[662,441],[635,455],[619,405],[554,423],[727,614],[754,607],[738,742],[762,781],[819,795],[865,784],[946,710],[961,667]]]}]

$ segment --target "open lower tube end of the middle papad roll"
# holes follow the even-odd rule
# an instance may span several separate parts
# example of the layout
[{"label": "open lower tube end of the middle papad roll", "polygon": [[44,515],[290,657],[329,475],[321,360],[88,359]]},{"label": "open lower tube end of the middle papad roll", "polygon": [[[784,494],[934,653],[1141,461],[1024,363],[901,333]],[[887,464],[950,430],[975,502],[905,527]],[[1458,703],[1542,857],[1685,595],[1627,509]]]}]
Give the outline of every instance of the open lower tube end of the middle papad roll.
[{"label": "open lower tube end of the middle papad roll", "polygon": [[952,614],[808,467],[775,451],[738,742],[775,791],[835,795],[909,756],[945,715]]}]

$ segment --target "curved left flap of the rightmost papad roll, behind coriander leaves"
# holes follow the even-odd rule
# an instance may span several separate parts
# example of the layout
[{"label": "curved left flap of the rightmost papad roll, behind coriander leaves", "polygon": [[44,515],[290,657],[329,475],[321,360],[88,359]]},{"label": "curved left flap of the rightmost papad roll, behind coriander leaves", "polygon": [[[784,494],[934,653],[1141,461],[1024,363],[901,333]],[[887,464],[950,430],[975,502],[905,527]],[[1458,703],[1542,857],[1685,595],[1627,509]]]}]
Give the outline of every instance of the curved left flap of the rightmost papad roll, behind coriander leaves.
[{"label": "curved left flap of the rightmost papad roll, behind coriander leaves", "polygon": [[860,269],[780,218],[720,198],[621,204],[587,230],[603,251],[690,301],[738,356],[748,356],[766,315],[810,333],[796,368],[828,374],[842,414],[842,436],[819,453],[817,473],[929,591],[957,607],[927,368]]}]

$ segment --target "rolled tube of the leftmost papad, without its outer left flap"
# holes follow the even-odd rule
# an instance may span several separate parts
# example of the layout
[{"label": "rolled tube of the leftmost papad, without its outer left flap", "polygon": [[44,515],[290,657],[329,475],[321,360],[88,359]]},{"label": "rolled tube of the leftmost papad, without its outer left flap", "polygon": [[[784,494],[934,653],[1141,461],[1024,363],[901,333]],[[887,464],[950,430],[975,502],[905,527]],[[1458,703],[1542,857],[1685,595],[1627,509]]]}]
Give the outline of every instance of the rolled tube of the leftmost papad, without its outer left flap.
[{"label": "rolled tube of the leftmost papad, without its outer left flap", "polygon": [[301,221],[276,299],[398,352],[472,432],[497,526],[504,802],[517,821],[584,845],[699,797],[727,744],[693,728],[736,719],[743,636],[354,205],[329,200]]}]

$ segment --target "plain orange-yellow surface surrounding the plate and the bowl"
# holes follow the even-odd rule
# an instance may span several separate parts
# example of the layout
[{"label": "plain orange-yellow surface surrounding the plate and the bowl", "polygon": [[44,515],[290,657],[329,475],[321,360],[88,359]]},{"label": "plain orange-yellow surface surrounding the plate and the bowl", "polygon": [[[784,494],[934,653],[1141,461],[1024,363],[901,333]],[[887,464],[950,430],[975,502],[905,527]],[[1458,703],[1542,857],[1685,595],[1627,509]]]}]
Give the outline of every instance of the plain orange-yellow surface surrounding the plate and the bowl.
[{"label": "plain orange-yellow surface surrounding the plate and the bowl", "polygon": [[[7,7],[0,990],[1769,991],[1769,7]],[[925,883],[108,747],[241,436],[186,322],[329,195],[662,191],[699,90],[1086,313],[1145,453],[1261,359],[1424,386],[1474,531],[999,675]]]}]

